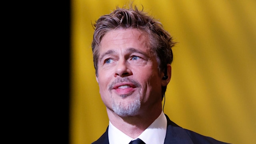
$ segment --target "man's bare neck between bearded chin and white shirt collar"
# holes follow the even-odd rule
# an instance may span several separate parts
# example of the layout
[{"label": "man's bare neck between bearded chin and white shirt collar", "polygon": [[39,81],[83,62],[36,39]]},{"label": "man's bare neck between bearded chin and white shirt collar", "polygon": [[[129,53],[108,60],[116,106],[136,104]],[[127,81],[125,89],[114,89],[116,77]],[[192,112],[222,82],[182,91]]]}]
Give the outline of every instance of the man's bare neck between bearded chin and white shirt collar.
[{"label": "man's bare neck between bearded chin and white shirt collar", "polygon": [[118,116],[112,110],[107,108],[110,122],[119,130],[131,138],[137,138],[162,112],[162,104],[147,110],[140,110],[134,116]]}]

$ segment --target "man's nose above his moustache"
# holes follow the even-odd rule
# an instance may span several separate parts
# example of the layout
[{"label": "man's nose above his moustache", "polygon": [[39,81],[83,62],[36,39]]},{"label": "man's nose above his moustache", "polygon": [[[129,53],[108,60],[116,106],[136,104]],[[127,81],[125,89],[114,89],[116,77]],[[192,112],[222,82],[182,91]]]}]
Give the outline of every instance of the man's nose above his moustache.
[{"label": "man's nose above his moustache", "polygon": [[119,60],[118,64],[116,65],[115,77],[125,77],[130,75],[132,75],[132,71],[129,68],[129,64],[126,62],[126,60]]}]

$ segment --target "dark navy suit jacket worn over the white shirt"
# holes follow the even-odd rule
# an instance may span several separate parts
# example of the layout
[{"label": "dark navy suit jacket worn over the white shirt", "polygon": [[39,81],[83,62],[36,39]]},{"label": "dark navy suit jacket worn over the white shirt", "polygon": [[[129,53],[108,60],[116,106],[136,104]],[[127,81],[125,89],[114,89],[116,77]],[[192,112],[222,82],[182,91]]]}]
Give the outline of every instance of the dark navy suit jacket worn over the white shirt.
[{"label": "dark navy suit jacket worn over the white shirt", "polygon": [[[164,139],[164,144],[227,144],[220,142],[213,138],[202,136],[196,132],[181,128],[172,122],[167,115],[167,130]],[[109,144],[108,142],[108,128],[106,132],[92,144]]]}]

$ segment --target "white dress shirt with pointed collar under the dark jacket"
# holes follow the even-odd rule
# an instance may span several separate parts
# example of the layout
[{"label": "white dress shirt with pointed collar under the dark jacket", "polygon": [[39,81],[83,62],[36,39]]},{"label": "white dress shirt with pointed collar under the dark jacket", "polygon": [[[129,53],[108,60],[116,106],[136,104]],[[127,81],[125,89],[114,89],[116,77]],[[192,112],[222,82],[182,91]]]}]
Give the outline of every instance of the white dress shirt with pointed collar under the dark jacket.
[{"label": "white dress shirt with pointed collar under the dark jacket", "polygon": [[[143,140],[146,144],[164,144],[164,139],[166,136],[167,129],[167,120],[164,115],[164,112],[156,118],[150,126],[138,138]],[[130,141],[135,140],[137,138],[131,138],[127,136],[120,130],[118,130],[111,122],[109,121],[108,126],[108,140],[109,144],[129,144]]]}]

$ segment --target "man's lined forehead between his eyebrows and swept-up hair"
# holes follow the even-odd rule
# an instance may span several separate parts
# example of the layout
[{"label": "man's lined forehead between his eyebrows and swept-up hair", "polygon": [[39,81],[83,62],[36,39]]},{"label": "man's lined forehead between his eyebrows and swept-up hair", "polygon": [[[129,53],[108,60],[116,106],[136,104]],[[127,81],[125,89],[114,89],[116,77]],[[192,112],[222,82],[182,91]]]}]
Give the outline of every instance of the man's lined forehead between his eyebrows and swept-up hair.
[{"label": "man's lined forehead between his eyebrows and swept-up hair", "polygon": [[100,44],[100,51],[109,48],[148,48],[148,36],[137,29],[116,29],[105,34]]}]

